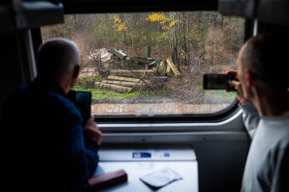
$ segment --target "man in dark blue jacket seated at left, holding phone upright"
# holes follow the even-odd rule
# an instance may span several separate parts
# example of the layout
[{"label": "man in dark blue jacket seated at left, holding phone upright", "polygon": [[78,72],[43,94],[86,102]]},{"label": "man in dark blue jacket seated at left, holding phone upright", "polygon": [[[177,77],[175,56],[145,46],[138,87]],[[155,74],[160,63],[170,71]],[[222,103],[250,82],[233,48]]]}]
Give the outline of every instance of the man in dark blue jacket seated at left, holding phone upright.
[{"label": "man in dark blue jacket seated at left, holding phone upright", "polygon": [[1,129],[9,150],[4,159],[14,187],[79,191],[95,172],[102,133],[93,116],[82,127],[79,110],[66,97],[77,80],[79,61],[72,41],[47,41],[39,49],[38,77],[5,102]]}]

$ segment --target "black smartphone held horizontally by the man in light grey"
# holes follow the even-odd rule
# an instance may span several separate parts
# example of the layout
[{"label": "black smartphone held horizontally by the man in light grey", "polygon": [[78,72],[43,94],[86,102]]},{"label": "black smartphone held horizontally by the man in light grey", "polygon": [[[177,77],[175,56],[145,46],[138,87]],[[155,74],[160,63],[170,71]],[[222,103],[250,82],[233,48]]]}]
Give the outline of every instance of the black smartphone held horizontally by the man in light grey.
[{"label": "black smartphone held horizontally by the man in light grey", "polygon": [[229,89],[231,87],[231,80],[235,80],[235,75],[232,74],[205,74],[203,80],[204,89]]}]

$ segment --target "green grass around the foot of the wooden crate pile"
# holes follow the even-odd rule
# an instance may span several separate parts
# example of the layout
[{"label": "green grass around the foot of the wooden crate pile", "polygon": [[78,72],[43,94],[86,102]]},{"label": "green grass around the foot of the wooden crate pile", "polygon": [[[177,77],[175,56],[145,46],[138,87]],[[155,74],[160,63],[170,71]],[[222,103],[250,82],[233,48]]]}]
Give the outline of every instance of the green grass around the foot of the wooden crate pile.
[{"label": "green grass around the foot of the wooden crate pile", "polygon": [[[76,91],[90,91],[91,92],[91,98],[97,99],[97,100],[103,100],[103,99],[125,99],[125,98],[131,98],[134,96],[138,96],[138,91],[131,91],[130,93],[119,93],[116,91],[111,91],[108,89],[102,89],[102,88],[95,88],[94,82],[101,82],[103,80],[102,76],[92,76],[92,77],[78,77],[77,82],[75,86],[72,88],[72,90]],[[165,93],[168,92],[168,88],[162,89]],[[149,95],[155,95],[155,91],[144,91],[144,96],[148,97]]]}]

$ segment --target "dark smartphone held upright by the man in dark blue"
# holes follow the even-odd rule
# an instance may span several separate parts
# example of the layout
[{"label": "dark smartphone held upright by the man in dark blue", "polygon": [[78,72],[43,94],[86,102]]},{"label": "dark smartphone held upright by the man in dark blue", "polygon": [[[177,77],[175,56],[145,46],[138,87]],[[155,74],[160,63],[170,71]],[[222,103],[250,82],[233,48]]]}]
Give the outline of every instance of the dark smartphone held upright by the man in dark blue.
[{"label": "dark smartphone held upright by the man in dark blue", "polygon": [[91,104],[91,92],[89,91],[69,91],[67,97],[73,101],[73,103],[79,109],[83,125],[86,124],[90,118],[90,104]]}]

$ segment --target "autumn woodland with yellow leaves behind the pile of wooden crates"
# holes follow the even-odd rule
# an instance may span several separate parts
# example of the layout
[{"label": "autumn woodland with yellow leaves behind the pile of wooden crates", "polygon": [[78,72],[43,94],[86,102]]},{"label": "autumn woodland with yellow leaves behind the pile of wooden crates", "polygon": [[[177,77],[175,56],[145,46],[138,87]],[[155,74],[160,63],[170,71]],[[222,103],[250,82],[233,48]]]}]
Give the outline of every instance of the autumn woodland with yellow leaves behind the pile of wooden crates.
[{"label": "autumn woodland with yellow leaves behind the pile of wooden crates", "polygon": [[201,85],[205,73],[236,69],[244,18],[210,11],[70,14],[64,23],[41,27],[41,34],[43,42],[55,37],[73,40],[81,52],[81,68],[99,70],[101,60],[87,57],[91,50],[113,47],[144,57],[145,46],[151,46],[151,58],[172,59],[193,84]]}]

